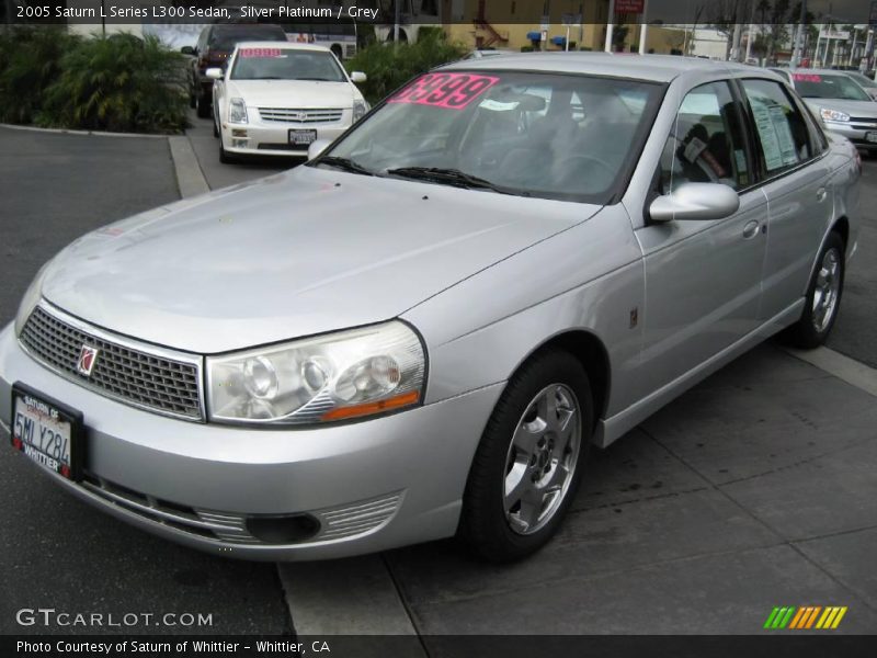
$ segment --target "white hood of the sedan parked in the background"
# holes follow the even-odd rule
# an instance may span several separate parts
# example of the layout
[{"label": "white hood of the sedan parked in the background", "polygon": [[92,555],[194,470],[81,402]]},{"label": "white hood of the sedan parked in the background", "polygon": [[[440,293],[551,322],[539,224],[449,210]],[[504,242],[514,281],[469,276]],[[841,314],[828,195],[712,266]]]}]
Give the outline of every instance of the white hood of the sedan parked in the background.
[{"label": "white hood of the sedan parked in the background", "polygon": [[349,82],[318,80],[229,80],[228,97],[251,107],[351,107],[360,98]]}]

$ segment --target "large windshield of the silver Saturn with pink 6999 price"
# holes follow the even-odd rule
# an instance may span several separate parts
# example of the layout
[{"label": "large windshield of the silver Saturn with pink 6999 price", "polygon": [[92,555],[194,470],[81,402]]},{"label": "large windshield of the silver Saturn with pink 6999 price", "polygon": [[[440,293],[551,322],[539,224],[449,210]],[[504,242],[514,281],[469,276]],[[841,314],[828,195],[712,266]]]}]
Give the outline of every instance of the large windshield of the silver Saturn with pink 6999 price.
[{"label": "large windshield of the silver Saturn with pink 6999 price", "polygon": [[607,203],[638,157],[662,90],[590,76],[426,73],[316,166]]}]

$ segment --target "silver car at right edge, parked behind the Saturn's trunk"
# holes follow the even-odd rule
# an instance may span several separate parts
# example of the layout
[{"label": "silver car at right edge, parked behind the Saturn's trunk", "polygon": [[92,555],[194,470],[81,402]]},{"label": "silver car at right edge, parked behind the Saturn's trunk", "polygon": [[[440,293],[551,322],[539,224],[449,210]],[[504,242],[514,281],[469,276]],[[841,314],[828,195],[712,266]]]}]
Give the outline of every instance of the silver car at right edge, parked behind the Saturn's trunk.
[{"label": "silver car at right edge, parked behind the Saturn's trunk", "polygon": [[833,133],[858,148],[877,150],[877,103],[848,72],[831,69],[777,70]]}]

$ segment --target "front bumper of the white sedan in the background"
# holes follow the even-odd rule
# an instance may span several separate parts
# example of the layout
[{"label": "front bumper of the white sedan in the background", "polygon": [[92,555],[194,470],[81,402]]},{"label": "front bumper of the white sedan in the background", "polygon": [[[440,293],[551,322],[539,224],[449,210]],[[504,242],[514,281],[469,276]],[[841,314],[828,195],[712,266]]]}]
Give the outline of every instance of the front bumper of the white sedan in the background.
[{"label": "front bumper of the white sedan in the background", "polygon": [[247,124],[224,121],[220,125],[224,148],[230,154],[250,156],[295,156],[306,158],[308,145],[289,144],[289,131],[316,131],[317,139],[333,140],[353,124],[353,111],[344,110],[341,120],[331,123],[283,123],[263,121],[255,107],[248,107]]}]

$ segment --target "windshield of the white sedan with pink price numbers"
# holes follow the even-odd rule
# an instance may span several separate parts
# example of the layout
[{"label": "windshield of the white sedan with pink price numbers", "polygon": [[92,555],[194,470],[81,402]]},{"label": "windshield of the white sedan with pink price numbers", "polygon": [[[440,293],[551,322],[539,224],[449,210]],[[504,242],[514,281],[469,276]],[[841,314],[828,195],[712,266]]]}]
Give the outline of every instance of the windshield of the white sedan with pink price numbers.
[{"label": "windshield of the white sedan with pink price numbers", "polygon": [[291,48],[240,48],[231,79],[346,81],[331,53]]}]

